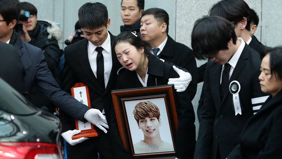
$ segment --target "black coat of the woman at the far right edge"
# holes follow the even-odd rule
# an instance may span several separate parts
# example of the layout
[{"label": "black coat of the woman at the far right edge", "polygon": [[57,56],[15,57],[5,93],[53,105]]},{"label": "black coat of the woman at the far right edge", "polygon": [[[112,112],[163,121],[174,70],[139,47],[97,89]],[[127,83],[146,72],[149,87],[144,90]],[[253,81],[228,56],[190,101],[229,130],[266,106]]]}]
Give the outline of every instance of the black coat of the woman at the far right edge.
[{"label": "black coat of the woman at the far right edge", "polygon": [[228,159],[282,157],[282,91],[270,96],[246,123],[240,142]]}]

